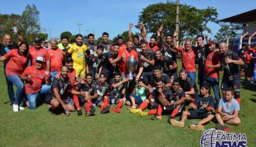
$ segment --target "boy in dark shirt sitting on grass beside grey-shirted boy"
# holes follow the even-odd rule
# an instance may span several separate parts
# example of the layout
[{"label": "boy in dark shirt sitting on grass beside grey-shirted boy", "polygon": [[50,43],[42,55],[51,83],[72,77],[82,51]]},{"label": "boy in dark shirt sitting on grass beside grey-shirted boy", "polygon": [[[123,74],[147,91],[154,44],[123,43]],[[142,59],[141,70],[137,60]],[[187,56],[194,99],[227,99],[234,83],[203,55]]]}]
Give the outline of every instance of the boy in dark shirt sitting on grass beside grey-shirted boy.
[{"label": "boy in dark shirt sitting on grass beside grey-shirted boy", "polygon": [[211,111],[214,107],[214,98],[209,95],[209,86],[204,84],[200,89],[200,94],[196,97],[195,104],[189,104],[190,107],[196,110],[192,111],[183,111],[180,121],[172,119],[170,122],[174,126],[184,127],[184,123],[189,119],[202,119],[198,123],[190,125],[189,128],[193,130],[203,130],[204,124],[208,123],[214,118],[214,115],[211,114]]}]

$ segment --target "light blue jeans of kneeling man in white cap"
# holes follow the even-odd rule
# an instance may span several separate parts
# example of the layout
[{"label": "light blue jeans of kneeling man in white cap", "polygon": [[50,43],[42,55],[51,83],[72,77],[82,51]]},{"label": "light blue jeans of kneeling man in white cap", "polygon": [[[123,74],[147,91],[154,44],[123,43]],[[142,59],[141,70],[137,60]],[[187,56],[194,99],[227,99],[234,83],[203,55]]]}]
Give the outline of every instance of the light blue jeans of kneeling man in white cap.
[{"label": "light blue jeans of kneeling man in white cap", "polygon": [[49,91],[51,91],[51,85],[44,84],[44,85],[42,85],[40,92],[27,94],[29,108],[36,109],[36,98],[38,97],[38,95],[39,94],[44,95],[44,94],[48,93]]}]

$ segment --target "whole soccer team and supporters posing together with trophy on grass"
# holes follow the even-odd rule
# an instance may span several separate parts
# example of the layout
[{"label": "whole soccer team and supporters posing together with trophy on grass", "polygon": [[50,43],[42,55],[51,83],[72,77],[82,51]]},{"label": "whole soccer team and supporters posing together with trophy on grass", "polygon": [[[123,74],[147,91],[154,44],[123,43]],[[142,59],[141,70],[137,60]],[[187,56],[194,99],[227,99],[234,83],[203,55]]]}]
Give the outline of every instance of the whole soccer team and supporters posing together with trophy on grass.
[{"label": "whole soccer team and supporters posing together with trophy on grass", "polygon": [[[236,52],[228,50],[227,44],[220,45],[211,40],[204,42],[204,36],[197,36],[197,47],[187,40],[179,47],[178,32],[163,35],[163,25],[147,40],[147,31],[140,24],[140,36],[132,36],[129,24],[129,41],[124,43],[118,36],[117,43],[108,42],[108,33],[102,33],[103,41],[95,43],[94,35],[76,35],[75,43],[68,43],[68,36],[61,36],[61,42],[52,39],[51,47],[42,47],[42,40],[35,36],[33,47],[29,47],[18,33],[19,44],[12,42],[10,35],[4,35],[0,44],[0,61],[4,61],[4,75],[13,111],[17,112],[25,102],[29,109],[38,104],[49,105],[49,111],[56,114],[70,111],[77,115],[120,112],[123,104],[129,111],[140,116],[154,115],[152,120],[162,119],[168,114],[168,123],[183,127],[185,120],[202,119],[190,125],[191,129],[202,130],[204,124],[214,119],[218,128],[227,129],[224,123],[239,125],[240,66],[243,59]],[[205,35],[207,39],[207,35]],[[180,54],[182,67],[177,71],[176,55]],[[127,77],[127,61],[136,59],[133,78]],[[198,61],[198,84],[196,87],[196,60]],[[219,71],[223,70],[220,96]],[[129,70],[129,71],[128,71]],[[131,74],[131,73],[130,73]],[[13,84],[17,87],[14,94]],[[211,88],[214,97],[211,96]],[[186,105],[191,109],[186,111]],[[24,105],[23,105],[24,106]],[[145,109],[150,111],[145,112]],[[181,120],[175,116],[181,115]]]}]

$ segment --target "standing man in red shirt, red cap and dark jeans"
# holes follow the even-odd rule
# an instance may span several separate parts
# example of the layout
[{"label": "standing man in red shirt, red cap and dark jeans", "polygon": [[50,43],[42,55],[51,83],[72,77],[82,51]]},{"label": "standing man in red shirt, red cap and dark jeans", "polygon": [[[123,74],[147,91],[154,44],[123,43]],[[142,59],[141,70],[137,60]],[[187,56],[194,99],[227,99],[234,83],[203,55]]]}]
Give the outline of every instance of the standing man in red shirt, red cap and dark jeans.
[{"label": "standing man in red shirt, red cap and dark jeans", "polygon": [[211,85],[214,96],[215,105],[214,108],[218,107],[220,101],[220,88],[219,88],[219,68],[220,68],[220,54],[215,50],[214,41],[209,41],[207,43],[209,54],[205,58],[204,65],[204,83]]}]

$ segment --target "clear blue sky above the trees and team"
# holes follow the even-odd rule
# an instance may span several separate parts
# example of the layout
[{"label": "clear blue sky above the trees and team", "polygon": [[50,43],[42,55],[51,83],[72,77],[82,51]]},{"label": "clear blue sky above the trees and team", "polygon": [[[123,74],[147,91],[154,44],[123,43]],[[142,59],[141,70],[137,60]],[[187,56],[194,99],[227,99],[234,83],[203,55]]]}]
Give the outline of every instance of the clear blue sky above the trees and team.
[{"label": "clear blue sky above the trees and team", "polygon": [[[102,32],[109,33],[109,38],[123,33],[129,29],[129,22],[138,23],[138,16],[148,4],[166,1],[153,0],[0,0],[0,13],[16,13],[21,15],[27,4],[35,4],[40,12],[40,24],[46,29],[51,29],[51,38],[60,37],[63,31],[70,31],[73,35],[79,33],[77,23],[82,23],[81,34],[92,33],[99,38]],[[256,8],[255,0],[180,0],[180,4],[189,4],[196,8],[212,6],[217,9],[218,19],[224,19],[239,13]],[[256,17],[256,16],[254,16]],[[220,26],[207,24],[212,29],[213,36]],[[88,30],[88,31],[86,31]],[[139,32],[133,28],[132,32]],[[49,32],[48,32],[49,33]]]}]

